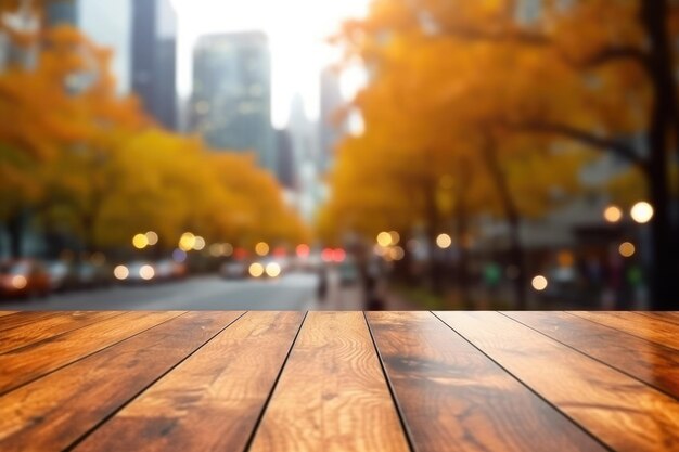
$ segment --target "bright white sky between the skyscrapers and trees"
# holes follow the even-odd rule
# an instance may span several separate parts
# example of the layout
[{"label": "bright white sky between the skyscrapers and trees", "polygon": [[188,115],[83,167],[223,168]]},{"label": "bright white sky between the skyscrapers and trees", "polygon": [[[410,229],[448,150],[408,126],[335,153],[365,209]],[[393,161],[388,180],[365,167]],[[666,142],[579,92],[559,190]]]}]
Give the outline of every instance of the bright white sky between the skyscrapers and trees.
[{"label": "bright white sky between the skyscrapers and trees", "polygon": [[[291,100],[300,93],[307,114],[318,116],[322,67],[340,52],[324,39],[347,17],[363,16],[370,0],[172,0],[179,15],[179,92],[191,93],[191,59],[198,36],[216,31],[262,30],[269,36],[272,59],[272,121],[284,127]],[[343,77],[350,94],[362,72]]]}]

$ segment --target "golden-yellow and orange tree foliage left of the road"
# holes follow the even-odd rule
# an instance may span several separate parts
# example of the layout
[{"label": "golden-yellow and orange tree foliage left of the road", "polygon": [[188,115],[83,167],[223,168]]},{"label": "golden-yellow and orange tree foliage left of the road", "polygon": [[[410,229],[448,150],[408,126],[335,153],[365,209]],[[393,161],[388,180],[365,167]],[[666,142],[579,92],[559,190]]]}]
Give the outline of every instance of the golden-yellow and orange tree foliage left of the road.
[{"label": "golden-yellow and orange tree foliage left of the road", "polygon": [[197,137],[162,129],[133,95],[119,96],[110,50],[68,26],[38,42],[35,67],[0,74],[0,221],[15,256],[25,216],[88,251],[129,249],[146,231],[158,234],[159,251],[185,231],[248,244],[307,238],[251,156],[210,152]]}]

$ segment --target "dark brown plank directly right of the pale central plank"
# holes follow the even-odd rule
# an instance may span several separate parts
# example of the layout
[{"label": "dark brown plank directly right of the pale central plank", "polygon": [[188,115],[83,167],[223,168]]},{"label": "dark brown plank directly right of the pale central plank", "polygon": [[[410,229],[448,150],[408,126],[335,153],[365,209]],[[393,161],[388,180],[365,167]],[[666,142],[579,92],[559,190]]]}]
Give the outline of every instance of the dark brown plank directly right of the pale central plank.
[{"label": "dark brown plank directly right of the pale central plank", "polygon": [[415,450],[604,450],[432,313],[367,315]]}]

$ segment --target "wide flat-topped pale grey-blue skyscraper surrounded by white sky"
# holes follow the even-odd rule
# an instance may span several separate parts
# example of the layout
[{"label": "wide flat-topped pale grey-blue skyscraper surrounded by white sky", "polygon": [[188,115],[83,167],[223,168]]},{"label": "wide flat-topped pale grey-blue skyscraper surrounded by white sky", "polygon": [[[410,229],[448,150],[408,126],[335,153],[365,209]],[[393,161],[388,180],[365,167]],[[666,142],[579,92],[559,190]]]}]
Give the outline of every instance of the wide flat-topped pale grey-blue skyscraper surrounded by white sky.
[{"label": "wide flat-topped pale grey-blue skyscraper surrounded by white sky", "polygon": [[262,33],[203,36],[193,54],[191,128],[216,150],[254,151],[277,173],[271,57]]}]

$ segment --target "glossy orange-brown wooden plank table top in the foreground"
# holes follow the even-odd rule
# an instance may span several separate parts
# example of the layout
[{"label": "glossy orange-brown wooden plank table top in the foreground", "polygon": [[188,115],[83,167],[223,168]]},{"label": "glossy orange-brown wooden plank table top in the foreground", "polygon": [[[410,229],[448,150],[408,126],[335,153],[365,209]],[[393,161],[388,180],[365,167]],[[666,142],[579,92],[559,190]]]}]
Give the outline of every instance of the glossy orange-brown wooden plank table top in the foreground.
[{"label": "glossy orange-brown wooden plank table top in the foreground", "polygon": [[0,312],[0,450],[678,451],[679,313]]}]

